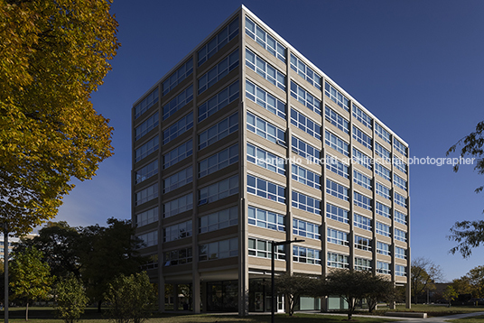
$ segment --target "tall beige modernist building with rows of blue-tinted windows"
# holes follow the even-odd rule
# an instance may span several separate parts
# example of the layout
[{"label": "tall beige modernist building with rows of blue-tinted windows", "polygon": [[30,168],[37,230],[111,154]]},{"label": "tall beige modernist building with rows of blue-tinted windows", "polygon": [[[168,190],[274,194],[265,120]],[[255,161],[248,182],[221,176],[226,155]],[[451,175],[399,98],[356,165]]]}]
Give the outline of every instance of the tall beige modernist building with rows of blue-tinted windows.
[{"label": "tall beige modernist building with rows of blue-tinted windows", "polygon": [[[270,243],[293,239],[304,241],[277,248],[277,274],[354,268],[408,293],[407,157],[404,140],[241,6],[133,106],[133,223],[160,309],[171,284],[195,312],[270,310]],[[300,309],[340,306],[302,298]]]}]

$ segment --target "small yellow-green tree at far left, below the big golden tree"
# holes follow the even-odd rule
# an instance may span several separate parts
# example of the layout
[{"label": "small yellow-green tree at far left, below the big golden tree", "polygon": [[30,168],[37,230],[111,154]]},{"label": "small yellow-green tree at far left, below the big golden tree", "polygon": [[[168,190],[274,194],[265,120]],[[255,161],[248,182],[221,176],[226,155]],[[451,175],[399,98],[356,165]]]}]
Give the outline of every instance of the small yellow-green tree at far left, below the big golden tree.
[{"label": "small yellow-green tree at far left, below the big golden tree", "polygon": [[25,320],[28,320],[29,302],[49,296],[53,277],[49,265],[42,263],[42,253],[35,248],[28,248],[23,253],[13,253],[12,257],[10,287],[14,298],[26,301]]}]

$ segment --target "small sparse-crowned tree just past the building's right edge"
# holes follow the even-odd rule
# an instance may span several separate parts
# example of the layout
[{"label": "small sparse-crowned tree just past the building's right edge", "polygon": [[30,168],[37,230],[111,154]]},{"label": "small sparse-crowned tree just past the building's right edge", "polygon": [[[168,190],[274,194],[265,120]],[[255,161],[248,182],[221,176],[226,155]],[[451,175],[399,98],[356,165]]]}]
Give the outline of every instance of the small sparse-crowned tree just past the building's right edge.
[{"label": "small sparse-crowned tree just past the building's right edge", "polygon": [[417,303],[418,295],[423,291],[434,290],[434,282],[442,281],[442,279],[443,273],[439,265],[433,263],[430,259],[415,258],[412,261],[410,278],[415,304]]}]

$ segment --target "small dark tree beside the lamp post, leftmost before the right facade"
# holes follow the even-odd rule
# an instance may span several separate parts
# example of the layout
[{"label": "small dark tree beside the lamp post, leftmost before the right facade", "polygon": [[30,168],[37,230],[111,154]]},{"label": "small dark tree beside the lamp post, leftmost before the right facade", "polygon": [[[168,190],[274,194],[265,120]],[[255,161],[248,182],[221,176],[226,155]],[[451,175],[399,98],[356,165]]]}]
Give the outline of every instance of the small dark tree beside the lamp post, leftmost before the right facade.
[{"label": "small dark tree beside the lamp post, leftmost before the right facade", "polygon": [[290,316],[293,316],[294,307],[299,298],[309,294],[314,282],[314,279],[300,275],[284,274],[275,278],[275,290],[277,293],[284,294],[285,299],[288,300]]}]

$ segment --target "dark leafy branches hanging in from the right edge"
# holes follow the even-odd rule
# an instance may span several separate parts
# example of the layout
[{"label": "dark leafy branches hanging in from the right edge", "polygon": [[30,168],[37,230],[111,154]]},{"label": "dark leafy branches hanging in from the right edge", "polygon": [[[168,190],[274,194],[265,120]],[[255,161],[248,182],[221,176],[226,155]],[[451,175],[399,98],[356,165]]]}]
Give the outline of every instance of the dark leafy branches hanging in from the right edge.
[{"label": "dark leafy branches hanging in from the right edge", "polygon": [[[447,155],[456,152],[457,147],[461,147],[460,156],[472,157],[476,159],[474,170],[479,175],[484,174],[484,121],[476,125],[476,131],[463,137],[458,143],[455,143],[447,151]],[[454,167],[454,171],[459,171],[460,163]],[[481,192],[484,185],[475,189],[476,193]],[[458,245],[451,248],[451,254],[461,253],[462,257],[468,258],[472,254],[472,248],[479,247],[484,243],[484,220],[479,221],[458,221],[451,227],[450,240],[455,241]]]}]

